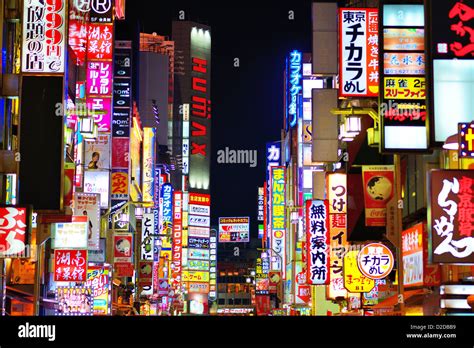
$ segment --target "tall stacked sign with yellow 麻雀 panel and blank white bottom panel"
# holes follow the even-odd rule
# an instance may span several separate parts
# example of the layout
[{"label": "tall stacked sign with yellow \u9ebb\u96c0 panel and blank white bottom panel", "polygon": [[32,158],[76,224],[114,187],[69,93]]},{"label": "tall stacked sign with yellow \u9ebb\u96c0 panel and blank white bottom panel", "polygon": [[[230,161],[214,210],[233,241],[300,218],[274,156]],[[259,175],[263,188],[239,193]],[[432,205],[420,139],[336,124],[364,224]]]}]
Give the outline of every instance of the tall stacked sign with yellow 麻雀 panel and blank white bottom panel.
[{"label": "tall stacked sign with yellow \u9ebb\u96c0 panel and blank white bottom panel", "polygon": [[426,151],[423,5],[383,4],[380,56],[382,151]]}]

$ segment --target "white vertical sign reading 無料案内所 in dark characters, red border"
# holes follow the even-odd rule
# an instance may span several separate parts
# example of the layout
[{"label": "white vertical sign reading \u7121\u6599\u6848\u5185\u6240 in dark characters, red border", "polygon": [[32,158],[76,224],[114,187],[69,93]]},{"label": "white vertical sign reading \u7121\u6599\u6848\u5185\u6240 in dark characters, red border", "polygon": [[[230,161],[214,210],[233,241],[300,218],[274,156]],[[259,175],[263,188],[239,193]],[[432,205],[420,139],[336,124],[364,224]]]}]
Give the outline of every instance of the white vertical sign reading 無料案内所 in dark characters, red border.
[{"label": "white vertical sign reading \u7121\u6599\u6848\u5185\u6240 in dark characters, red border", "polygon": [[329,284],[329,204],[328,201],[306,201],[307,276],[311,285]]}]

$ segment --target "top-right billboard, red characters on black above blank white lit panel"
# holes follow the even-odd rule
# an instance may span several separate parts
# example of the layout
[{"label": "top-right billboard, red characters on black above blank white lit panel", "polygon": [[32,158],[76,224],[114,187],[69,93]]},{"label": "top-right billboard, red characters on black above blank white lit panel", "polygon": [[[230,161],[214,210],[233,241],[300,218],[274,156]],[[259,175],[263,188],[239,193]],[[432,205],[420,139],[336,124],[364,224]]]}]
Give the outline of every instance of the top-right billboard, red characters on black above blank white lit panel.
[{"label": "top-right billboard, red characters on black above blank white lit panel", "polygon": [[457,133],[458,123],[473,120],[473,0],[426,0],[429,58],[429,115],[434,142],[440,145]]}]

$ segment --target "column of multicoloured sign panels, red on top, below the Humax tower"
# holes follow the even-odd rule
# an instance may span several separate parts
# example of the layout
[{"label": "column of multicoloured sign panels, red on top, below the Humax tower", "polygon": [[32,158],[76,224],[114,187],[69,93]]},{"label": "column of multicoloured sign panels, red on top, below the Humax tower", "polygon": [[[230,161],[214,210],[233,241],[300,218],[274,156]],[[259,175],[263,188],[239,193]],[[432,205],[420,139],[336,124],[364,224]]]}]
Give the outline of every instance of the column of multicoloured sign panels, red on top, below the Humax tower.
[{"label": "column of multicoloured sign panels, red on top, below the Humax tower", "polygon": [[[211,244],[217,244],[216,235],[211,236],[211,197],[208,194],[189,193],[188,205],[188,271],[184,272],[189,300],[198,305],[193,306],[203,314],[208,308],[211,289],[216,291],[216,279],[210,279],[211,262],[215,266],[216,254],[211,255]],[[213,237],[214,242],[210,242]],[[217,245],[216,245],[217,247]],[[214,249],[215,250],[215,249]],[[212,256],[212,258],[211,258]],[[215,275],[215,272],[213,272]],[[212,287],[212,288],[211,288]],[[200,313],[200,312],[203,313]]]}]

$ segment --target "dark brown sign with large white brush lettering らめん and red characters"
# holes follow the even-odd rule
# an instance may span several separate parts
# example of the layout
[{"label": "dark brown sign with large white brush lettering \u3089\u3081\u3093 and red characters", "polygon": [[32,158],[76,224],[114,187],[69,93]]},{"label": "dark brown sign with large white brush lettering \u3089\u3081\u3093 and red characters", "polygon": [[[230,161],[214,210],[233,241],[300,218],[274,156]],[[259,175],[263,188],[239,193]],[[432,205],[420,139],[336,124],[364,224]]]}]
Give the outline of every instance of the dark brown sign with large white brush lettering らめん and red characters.
[{"label": "dark brown sign with large white brush lettering \u3089\u3081\u3093 and red characters", "polygon": [[474,263],[474,171],[435,170],[428,179],[433,263]]}]

